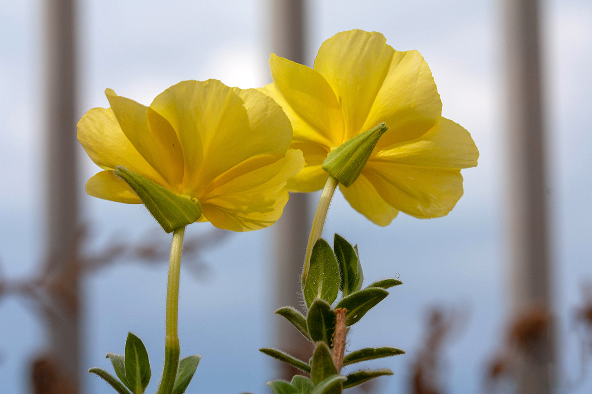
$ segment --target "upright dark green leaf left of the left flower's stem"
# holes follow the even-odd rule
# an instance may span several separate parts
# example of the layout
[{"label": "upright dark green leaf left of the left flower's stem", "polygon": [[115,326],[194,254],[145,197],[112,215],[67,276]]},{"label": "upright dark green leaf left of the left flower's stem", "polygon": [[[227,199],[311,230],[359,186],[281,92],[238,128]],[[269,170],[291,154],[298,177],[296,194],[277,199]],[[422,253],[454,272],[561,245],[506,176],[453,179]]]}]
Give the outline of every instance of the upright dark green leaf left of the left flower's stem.
[{"label": "upright dark green leaf left of the left flower's stem", "polygon": [[132,333],[127,334],[126,341],[126,379],[134,394],[142,394],[150,382],[150,362],[146,347]]}]

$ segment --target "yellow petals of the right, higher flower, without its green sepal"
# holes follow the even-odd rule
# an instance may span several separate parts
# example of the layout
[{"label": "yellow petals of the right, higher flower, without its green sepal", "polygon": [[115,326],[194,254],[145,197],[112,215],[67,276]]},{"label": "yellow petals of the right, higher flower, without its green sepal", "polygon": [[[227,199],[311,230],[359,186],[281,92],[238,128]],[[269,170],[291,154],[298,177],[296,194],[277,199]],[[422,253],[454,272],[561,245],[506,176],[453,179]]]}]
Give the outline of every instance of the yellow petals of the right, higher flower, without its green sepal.
[{"label": "yellow petals of the right, higher flower, without its green sepal", "polygon": [[272,54],[274,83],[262,90],[282,106],[294,129],[291,147],[307,166],[288,190],[323,187],[327,155],[385,122],[388,131],[356,181],[340,185],[353,208],[386,226],[398,211],[420,218],[446,215],[462,196],[461,168],[479,152],[469,132],[442,118],[442,102],[426,61],[399,52],[378,32],[340,32],[318,50],[314,69]]}]

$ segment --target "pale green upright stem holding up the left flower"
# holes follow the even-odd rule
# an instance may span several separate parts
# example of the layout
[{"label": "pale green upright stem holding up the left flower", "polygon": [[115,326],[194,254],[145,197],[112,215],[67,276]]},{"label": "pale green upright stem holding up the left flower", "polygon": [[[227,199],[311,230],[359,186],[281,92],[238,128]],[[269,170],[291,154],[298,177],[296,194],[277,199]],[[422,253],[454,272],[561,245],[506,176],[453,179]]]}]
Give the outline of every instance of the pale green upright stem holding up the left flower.
[{"label": "pale green upright stem holding up the left flower", "polygon": [[157,394],[170,394],[175,386],[175,377],[179,366],[179,274],[181,273],[181,254],[185,226],[173,232],[170,245],[169,279],[166,285],[166,323],[165,323],[165,366]]}]

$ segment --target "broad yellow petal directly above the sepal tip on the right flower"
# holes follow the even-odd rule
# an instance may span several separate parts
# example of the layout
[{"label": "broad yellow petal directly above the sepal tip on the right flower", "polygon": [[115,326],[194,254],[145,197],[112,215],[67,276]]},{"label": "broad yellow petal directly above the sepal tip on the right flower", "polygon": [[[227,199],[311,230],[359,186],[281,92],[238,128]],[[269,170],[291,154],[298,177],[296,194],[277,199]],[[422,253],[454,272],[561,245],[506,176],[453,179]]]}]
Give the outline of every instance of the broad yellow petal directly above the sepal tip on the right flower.
[{"label": "broad yellow petal directly above the sepal tip on the right flower", "polygon": [[389,130],[378,142],[380,148],[423,135],[441,113],[440,95],[422,55],[418,51],[395,51],[362,129],[387,123]]}]

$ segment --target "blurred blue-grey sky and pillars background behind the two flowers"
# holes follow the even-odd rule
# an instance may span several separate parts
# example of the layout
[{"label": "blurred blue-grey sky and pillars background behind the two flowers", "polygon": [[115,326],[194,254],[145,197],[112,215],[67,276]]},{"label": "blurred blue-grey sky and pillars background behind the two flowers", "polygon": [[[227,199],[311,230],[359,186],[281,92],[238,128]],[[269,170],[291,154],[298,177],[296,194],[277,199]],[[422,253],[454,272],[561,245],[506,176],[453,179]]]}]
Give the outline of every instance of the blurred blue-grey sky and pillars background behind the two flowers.
[{"label": "blurred blue-grey sky and pillars background behind the two flowers", "polygon": [[[74,125],[108,106],[104,89],[149,105],[186,79],[262,86],[272,51],[312,66],[324,40],[352,28],[419,50],[442,115],[468,129],[481,153],[478,167],[462,172],[464,197],[441,219],[400,214],[382,228],[334,197],[325,236],[359,244],[366,281],[404,282],[378,307],[387,317],[370,312],[349,337],[350,349],[407,351],[368,363],[394,376],[365,390],[513,392],[516,354],[542,341],[551,360],[534,351],[522,365],[551,365],[555,390],[530,392],[591,392],[590,1],[0,0],[2,393],[111,392],[85,370],[110,370],[105,353],[123,353],[128,331],[147,346],[154,387],[160,376],[169,237],[143,207],[83,189],[98,167],[74,142]],[[516,142],[516,128],[528,137]],[[535,159],[514,142],[525,152],[538,146]],[[60,150],[67,146],[71,154]],[[538,172],[520,167],[533,162]],[[529,245],[543,252],[521,271],[519,189],[539,175],[529,189],[536,220],[523,232],[538,235]],[[294,215],[300,224],[240,234],[188,227],[179,337],[182,356],[202,355],[188,393],[271,392],[265,382],[283,372],[258,349],[291,335],[278,332],[275,284],[300,272],[281,275],[278,239],[308,226],[317,198],[292,198],[287,209],[304,213]],[[542,272],[531,280],[542,289],[526,310],[519,289],[528,272]],[[78,379],[48,389],[44,376],[69,368]]]}]

